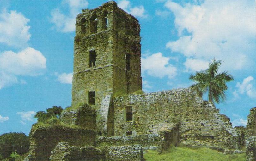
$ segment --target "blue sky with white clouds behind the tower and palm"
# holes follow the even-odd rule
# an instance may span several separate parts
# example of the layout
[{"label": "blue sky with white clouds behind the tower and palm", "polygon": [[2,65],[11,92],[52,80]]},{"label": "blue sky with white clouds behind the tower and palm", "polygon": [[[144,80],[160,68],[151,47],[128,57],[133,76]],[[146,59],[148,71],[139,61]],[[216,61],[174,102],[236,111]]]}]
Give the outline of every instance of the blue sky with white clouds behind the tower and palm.
[{"label": "blue sky with white clouds behind the tower and palm", "polygon": [[[75,17],[104,2],[0,0],[0,134],[28,134],[36,111],[70,106]],[[216,58],[235,78],[216,107],[246,125],[256,106],[254,0],[117,3],[141,24],[144,91],[190,86],[189,75]]]}]

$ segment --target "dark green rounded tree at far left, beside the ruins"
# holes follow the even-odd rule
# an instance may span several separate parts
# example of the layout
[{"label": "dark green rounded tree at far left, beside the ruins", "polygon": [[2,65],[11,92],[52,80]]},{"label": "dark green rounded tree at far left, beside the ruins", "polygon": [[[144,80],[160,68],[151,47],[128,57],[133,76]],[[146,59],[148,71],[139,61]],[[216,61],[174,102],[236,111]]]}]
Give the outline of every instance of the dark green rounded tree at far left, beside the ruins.
[{"label": "dark green rounded tree at far left, beside the ruins", "polygon": [[28,152],[29,137],[24,133],[10,132],[0,135],[0,154],[8,158],[12,152],[22,155]]}]

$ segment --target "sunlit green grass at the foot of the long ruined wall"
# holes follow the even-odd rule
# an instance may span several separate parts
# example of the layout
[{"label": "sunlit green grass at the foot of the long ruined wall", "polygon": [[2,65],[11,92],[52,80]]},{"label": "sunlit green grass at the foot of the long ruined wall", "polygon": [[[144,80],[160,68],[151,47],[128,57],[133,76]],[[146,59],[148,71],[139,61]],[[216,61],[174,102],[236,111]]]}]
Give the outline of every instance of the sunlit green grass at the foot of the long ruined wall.
[{"label": "sunlit green grass at the foot of the long ruined wall", "polygon": [[146,161],[245,161],[246,154],[224,155],[209,148],[172,147],[162,154],[149,150],[144,158]]}]

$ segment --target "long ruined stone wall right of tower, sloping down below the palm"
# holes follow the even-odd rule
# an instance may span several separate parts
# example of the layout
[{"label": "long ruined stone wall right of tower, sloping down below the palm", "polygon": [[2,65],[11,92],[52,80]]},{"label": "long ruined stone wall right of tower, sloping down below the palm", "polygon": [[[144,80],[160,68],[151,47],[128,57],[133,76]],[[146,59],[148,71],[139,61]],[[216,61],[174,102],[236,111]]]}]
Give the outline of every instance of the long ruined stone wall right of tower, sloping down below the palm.
[{"label": "long ruined stone wall right of tower, sloping down below the palm", "polygon": [[[132,105],[133,121],[125,122],[125,106]],[[173,122],[181,122],[181,142],[223,150],[235,148],[229,118],[208,101],[203,101],[190,88],[130,94],[114,99],[114,135],[127,131],[137,134],[157,133]]]}]

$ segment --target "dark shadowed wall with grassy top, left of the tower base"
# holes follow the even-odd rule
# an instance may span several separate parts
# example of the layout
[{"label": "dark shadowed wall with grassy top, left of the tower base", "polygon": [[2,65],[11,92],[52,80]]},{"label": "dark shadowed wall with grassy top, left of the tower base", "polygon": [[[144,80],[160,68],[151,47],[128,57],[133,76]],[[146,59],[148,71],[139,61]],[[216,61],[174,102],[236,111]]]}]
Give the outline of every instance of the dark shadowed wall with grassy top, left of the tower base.
[{"label": "dark shadowed wall with grassy top, left of the tower base", "polygon": [[71,128],[62,125],[51,125],[32,128],[30,133],[30,155],[25,160],[48,161],[51,151],[58,142],[69,142],[70,145],[95,145],[96,132],[90,129]]}]

